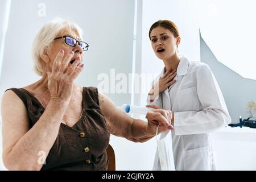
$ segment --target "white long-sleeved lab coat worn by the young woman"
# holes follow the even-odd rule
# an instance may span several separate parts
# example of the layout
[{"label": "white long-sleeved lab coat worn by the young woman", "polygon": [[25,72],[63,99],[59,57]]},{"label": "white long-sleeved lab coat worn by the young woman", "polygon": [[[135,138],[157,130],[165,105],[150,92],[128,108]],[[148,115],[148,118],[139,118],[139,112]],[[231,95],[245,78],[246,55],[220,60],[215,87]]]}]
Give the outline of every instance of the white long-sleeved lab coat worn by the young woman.
[{"label": "white long-sleeved lab coat worn by the young woman", "polygon": [[[163,73],[164,69],[159,76]],[[186,57],[180,60],[175,80],[154,102],[147,99],[147,104],[174,111],[175,169],[214,170],[214,151],[208,133],[231,122],[221,90],[207,64]],[[153,169],[161,169],[157,150]]]}]

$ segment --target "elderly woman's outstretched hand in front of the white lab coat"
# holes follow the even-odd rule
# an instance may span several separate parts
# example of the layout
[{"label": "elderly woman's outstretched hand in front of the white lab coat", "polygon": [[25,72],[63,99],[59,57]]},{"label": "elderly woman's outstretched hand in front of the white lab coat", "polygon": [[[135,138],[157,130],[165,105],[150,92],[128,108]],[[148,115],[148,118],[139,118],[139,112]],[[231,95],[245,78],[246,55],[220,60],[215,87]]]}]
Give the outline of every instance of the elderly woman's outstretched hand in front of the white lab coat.
[{"label": "elderly woman's outstretched hand in front of the white lab coat", "polygon": [[158,134],[174,129],[174,127],[171,125],[172,112],[170,110],[164,110],[154,105],[147,105],[147,107],[154,108],[154,110],[148,112],[146,115],[148,121],[148,133],[155,135],[158,125]]}]

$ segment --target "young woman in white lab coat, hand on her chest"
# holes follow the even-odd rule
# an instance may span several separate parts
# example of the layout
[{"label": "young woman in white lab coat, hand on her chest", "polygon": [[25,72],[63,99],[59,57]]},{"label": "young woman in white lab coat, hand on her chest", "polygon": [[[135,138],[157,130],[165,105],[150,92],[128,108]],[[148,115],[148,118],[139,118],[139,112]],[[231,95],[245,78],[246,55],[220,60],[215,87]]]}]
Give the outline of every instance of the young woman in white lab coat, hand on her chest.
[{"label": "young woman in white lab coat, hand on her chest", "polygon": [[[209,134],[231,118],[221,90],[207,64],[179,56],[180,34],[170,20],[152,24],[149,36],[164,68],[148,94],[148,104],[172,111],[172,148],[176,170],[213,170]],[[154,106],[153,106],[154,105]],[[158,152],[154,169],[160,169]]]}]

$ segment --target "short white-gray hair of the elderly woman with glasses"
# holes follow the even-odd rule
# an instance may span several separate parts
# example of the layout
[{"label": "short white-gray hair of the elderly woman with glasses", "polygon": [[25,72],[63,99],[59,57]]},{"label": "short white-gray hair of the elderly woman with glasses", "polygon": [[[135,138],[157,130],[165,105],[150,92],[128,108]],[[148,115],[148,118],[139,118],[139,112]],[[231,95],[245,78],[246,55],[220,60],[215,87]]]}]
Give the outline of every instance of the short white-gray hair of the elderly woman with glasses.
[{"label": "short white-gray hair of the elderly woman with glasses", "polygon": [[43,76],[43,67],[40,57],[43,55],[44,51],[51,48],[51,44],[57,34],[64,29],[76,31],[80,38],[82,38],[82,29],[76,23],[60,18],[52,19],[50,22],[44,24],[38,34],[36,34],[32,44],[32,58],[34,61],[34,71],[39,76]]}]

